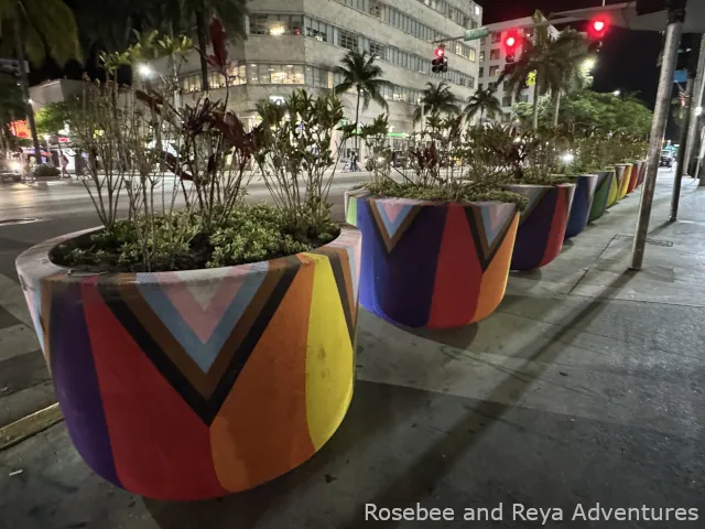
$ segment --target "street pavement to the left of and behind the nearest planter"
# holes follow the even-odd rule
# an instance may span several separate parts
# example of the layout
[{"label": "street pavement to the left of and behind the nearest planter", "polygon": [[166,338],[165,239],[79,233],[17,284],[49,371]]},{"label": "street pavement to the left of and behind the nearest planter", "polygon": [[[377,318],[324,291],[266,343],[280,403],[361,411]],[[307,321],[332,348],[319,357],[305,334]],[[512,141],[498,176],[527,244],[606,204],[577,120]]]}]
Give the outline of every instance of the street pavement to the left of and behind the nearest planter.
[{"label": "street pavement to the left of and behind the nearest planter", "polygon": [[[329,194],[336,219],[343,220],[345,191],[368,179],[369,173],[336,175]],[[170,180],[164,184],[167,194],[173,183]],[[248,187],[248,199],[259,202],[271,197],[262,182],[253,181]],[[127,197],[121,197],[121,204],[126,210]],[[42,240],[99,224],[93,202],[80,183],[57,183],[42,188],[0,184],[0,427],[55,401],[14,260]]]}]

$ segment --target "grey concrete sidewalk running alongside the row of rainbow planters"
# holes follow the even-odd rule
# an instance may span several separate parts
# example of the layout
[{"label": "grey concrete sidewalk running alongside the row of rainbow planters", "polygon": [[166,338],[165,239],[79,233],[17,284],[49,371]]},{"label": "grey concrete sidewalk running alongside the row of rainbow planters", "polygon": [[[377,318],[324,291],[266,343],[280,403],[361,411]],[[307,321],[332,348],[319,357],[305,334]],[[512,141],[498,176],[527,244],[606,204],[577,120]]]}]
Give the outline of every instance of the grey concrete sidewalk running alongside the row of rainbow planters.
[{"label": "grey concrete sidewalk running alongside the row of rainbow planters", "polygon": [[[705,190],[685,179],[681,220],[668,224],[671,186],[660,174],[639,273],[627,267],[640,190],[549,267],[512,273],[478,325],[409,332],[361,311],[348,417],[286,476],[219,500],[145,499],[93,474],[61,423],[0,452],[0,527],[541,526],[513,504],[562,509],[551,527],[702,527],[572,521],[597,503],[705,517]],[[365,521],[366,504],[416,503],[455,521]],[[502,521],[463,521],[500,503]]]}]

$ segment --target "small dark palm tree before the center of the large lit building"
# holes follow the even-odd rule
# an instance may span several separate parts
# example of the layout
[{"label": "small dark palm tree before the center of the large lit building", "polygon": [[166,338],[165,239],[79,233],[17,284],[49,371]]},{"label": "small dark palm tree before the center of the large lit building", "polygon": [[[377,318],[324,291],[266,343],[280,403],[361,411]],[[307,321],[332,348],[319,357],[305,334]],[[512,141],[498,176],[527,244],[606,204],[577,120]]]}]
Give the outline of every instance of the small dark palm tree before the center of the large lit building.
[{"label": "small dark palm tree before the center of the large lit building", "polygon": [[[389,80],[382,79],[383,71],[376,64],[377,56],[367,52],[349,52],[340,60],[340,66],[336,66],[334,73],[343,77],[343,82],[335,87],[336,94],[341,94],[355,88],[357,104],[355,106],[355,130],[360,121],[360,101],[362,111],[367,110],[371,101],[377,102],[383,109],[388,109],[387,99],[382,96],[382,89],[391,88]],[[356,138],[357,147],[357,138]]]}]

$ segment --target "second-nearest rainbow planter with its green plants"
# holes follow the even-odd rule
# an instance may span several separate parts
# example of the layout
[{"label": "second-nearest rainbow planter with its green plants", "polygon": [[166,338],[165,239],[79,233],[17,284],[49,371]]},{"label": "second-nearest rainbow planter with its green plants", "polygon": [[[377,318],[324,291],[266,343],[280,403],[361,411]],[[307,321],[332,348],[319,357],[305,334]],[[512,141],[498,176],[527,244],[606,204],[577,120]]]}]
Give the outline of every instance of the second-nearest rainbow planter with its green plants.
[{"label": "second-nearest rainbow planter with its green plants", "polygon": [[497,138],[508,131],[463,132],[453,117],[427,122],[431,142],[410,150],[412,174],[348,195],[364,236],[360,304],[412,327],[458,327],[501,302],[524,201],[500,187]]}]

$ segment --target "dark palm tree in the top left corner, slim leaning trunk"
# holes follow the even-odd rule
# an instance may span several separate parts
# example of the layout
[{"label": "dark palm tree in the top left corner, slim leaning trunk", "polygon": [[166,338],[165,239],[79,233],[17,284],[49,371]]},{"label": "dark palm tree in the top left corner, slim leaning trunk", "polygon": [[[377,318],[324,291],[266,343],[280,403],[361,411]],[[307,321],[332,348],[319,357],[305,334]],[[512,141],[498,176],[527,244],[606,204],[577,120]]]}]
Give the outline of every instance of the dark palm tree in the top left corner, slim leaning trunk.
[{"label": "dark palm tree in the top left corner, slim leaning trunk", "polygon": [[58,62],[78,58],[78,31],[74,13],[63,0],[6,0],[0,2],[0,26],[3,35],[12,35],[14,56],[20,62],[20,85],[26,101],[26,117],[40,160],[40,142],[30,101],[26,60],[33,64],[51,54]]}]

